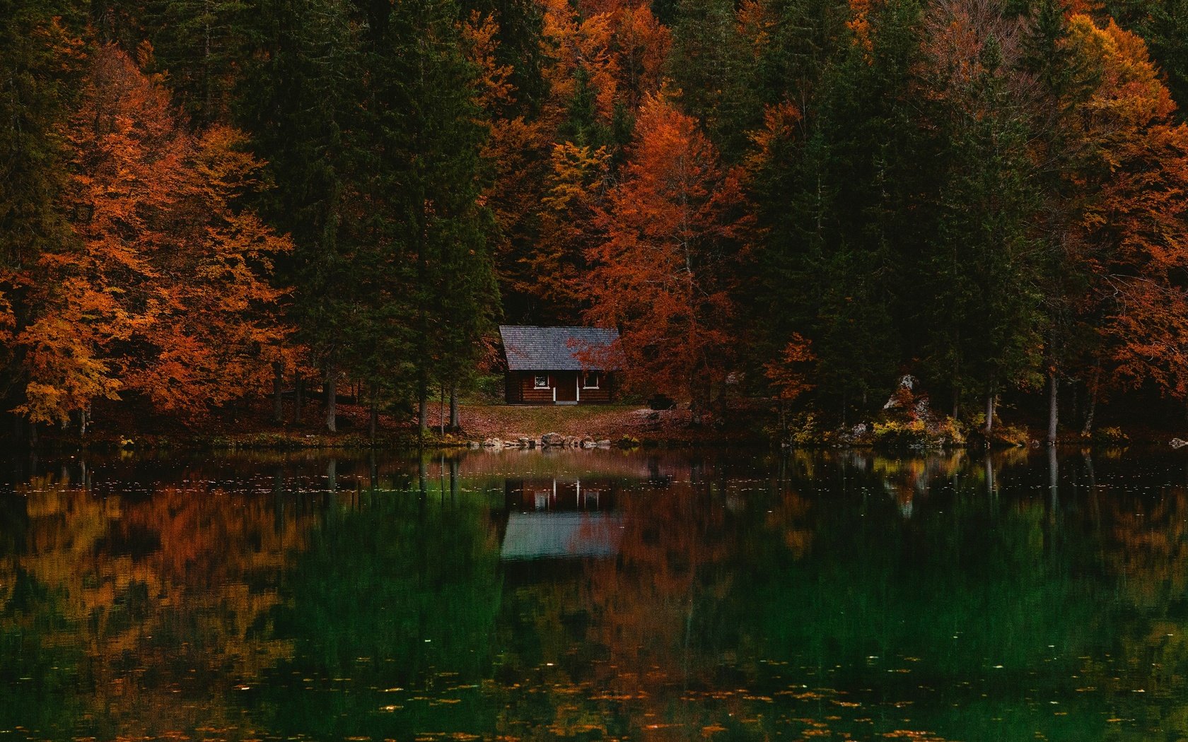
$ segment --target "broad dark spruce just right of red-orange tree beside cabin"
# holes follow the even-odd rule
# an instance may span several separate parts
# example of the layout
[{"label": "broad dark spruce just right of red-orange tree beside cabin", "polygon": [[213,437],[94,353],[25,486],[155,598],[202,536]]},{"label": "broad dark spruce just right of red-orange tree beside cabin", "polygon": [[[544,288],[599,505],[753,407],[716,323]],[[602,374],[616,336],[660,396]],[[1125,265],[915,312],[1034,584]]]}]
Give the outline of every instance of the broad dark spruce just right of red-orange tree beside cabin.
[{"label": "broad dark spruce just right of red-orange tree beside cabin", "polygon": [[819,401],[842,420],[855,405],[865,412],[901,364],[901,296],[911,293],[902,250],[927,229],[914,198],[928,151],[909,97],[918,21],[914,2],[892,1],[860,33],[848,28],[811,85],[809,110],[795,120],[769,113],[757,138],[773,148],[752,180],[762,235],[754,306],[782,307],[756,321],[757,355],[775,357],[796,334],[810,338]]}]

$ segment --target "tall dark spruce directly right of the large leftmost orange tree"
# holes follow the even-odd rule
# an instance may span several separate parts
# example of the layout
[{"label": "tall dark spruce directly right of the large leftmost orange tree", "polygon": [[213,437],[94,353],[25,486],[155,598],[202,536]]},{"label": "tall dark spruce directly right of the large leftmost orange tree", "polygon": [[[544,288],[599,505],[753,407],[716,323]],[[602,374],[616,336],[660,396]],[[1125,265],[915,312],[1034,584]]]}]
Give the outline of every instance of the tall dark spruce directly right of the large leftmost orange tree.
[{"label": "tall dark spruce directly right of the large leftmost orange tree", "polygon": [[260,47],[241,78],[238,114],[277,185],[261,211],[293,240],[279,273],[295,287],[293,319],[322,372],[334,431],[360,288],[350,246],[340,240],[356,146],[358,39],[345,0],[267,0],[253,18]]}]

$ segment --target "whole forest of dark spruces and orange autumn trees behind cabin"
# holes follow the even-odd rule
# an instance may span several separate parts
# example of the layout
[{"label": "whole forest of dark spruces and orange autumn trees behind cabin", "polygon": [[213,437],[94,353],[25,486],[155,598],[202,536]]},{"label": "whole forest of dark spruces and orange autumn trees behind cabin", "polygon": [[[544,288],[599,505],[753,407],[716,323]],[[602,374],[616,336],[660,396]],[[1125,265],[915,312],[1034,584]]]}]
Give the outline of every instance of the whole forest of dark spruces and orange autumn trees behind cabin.
[{"label": "whole forest of dark spruces and orange autumn trees behind cabin", "polygon": [[498,322],[694,419],[1188,400],[1188,0],[0,0],[0,70],[18,432],[424,427]]}]

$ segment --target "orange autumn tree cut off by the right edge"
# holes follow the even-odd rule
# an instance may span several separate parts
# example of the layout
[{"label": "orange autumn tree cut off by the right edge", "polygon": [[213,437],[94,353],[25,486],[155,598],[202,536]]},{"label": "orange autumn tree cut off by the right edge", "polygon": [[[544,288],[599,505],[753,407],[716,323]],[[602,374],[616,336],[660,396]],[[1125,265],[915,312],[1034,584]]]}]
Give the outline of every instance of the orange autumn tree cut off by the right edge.
[{"label": "orange autumn tree cut off by the right edge", "polygon": [[1188,127],[1145,43],[1113,21],[1069,20],[1099,83],[1081,104],[1085,207],[1075,235],[1093,275],[1085,319],[1116,383],[1188,398]]}]

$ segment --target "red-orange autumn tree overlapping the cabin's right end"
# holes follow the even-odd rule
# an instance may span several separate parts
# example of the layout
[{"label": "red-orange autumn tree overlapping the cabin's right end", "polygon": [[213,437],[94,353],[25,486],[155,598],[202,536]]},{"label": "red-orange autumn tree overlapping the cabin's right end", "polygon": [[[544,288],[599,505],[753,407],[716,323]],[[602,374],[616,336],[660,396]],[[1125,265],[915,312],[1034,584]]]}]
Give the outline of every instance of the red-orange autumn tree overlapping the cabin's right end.
[{"label": "red-orange autumn tree overlapping the cabin's right end", "polygon": [[649,96],[621,180],[598,210],[605,239],[581,284],[587,319],[620,328],[628,383],[691,399],[695,423],[734,361],[741,205],[737,175],[693,118]]}]

